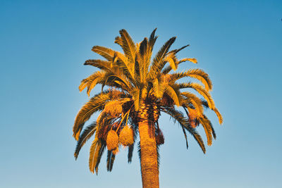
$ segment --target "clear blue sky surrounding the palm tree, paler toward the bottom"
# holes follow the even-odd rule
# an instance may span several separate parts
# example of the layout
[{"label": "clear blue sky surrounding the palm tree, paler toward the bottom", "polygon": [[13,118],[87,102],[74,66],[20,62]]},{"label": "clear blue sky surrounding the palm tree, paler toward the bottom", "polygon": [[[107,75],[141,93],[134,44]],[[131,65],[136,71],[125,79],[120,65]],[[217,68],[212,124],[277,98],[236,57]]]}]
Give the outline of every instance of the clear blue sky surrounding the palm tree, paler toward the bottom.
[{"label": "clear blue sky surrounding the palm tree, paler toward the bottom", "polygon": [[[118,30],[140,42],[157,27],[156,49],[177,36],[179,58],[212,78],[223,126],[204,155],[161,115],[161,187],[282,187],[282,1],[0,1],[0,187],[142,187],[137,149],[99,175],[78,161],[72,126],[88,100],[80,80],[94,45],[119,49]],[[190,68],[183,63],[180,69]],[[200,129],[200,132],[202,130]],[[204,132],[202,132],[204,133]],[[204,134],[202,134],[204,136]],[[91,141],[90,141],[91,142]]]}]

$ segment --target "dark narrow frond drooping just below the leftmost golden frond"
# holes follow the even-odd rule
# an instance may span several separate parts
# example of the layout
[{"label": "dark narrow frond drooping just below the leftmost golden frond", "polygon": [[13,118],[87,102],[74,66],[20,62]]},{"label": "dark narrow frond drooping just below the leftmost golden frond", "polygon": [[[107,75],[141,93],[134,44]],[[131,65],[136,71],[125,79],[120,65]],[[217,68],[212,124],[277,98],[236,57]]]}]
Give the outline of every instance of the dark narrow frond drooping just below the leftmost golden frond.
[{"label": "dark narrow frond drooping just below the leftmost golden frond", "polygon": [[82,146],[87,142],[88,139],[90,139],[90,137],[92,137],[92,135],[96,132],[96,130],[97,130],[97,123],[93,122],[91,125],[86,127],[85,130],[82,132],[82,134],[78,139],[78,144],[76,145],[75,148],[75,154],[74,154],[75,160],[78,158],[78,154]]}]

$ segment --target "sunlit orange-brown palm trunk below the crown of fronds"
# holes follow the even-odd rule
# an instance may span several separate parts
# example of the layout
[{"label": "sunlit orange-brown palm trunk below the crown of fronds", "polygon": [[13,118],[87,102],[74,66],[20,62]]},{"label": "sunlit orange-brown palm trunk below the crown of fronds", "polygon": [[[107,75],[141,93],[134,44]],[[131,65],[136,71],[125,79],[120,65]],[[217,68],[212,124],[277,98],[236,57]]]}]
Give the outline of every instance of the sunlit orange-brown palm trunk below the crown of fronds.
[{"label": "sunlit orange-brown palm trunk below the crown of fronds", "polygon": [[143,188],[159,188],[159,168],[154,125],[149,120],[138,123],[141,149],[141,173]]}]

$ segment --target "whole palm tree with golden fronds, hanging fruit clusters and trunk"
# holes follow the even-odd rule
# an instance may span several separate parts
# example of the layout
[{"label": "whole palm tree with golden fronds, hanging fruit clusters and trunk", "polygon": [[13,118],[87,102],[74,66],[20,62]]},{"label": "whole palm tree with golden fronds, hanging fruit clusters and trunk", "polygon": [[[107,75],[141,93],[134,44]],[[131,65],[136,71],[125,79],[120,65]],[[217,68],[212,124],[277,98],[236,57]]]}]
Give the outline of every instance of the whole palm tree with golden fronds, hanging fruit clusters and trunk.
[{"label": "whole palm tree with golden fronds, hanging fruit clusters and trunk", "polygon": [[[103,46],[92,48],[92,51],[104,57],[104,60],[85,61],[85,65],[92,65],[99,70],[82,80],[79,89],[81,92],[87,88],[87,94],[90,96],[92,89],[101,84],[102,91],[82,106],[73,126],[73,137],[78,141],[75,158],[78,158],[85,142],[94,135],[89,158],[92,173],[98,173],[99,162],[106,148],[106,168],[111,171],[118,146],[121,144],[128,147],[130,163],[134,143],[139,134],[143,187],[159,187],[158,151],[159,145],[164,144],[164,135],[158,123],[161,112],[170,115],[182,127],[187,148],[186,133],[189,132],[204,153],[206,149],[200,134],[197,133],[197,127],[202,125],[204,128],[208,146],[212,145],[212,139],[216,138],[212,123],[204,115],[204,108],[214,111],[219,123],[223,121],[209,94],[212,89],[209,75],[198,68],[176,72],[180,63],[197,63],[195,58],[176,57],[180,50],[189,45],[169,51],[171,44],[176,40],[176,37],[172,37],[152,58],[157,39],[156,30],[149,39],[145,38],[137,44],[126,30],[120,30],[121,36],[116,37],[115,43],[121,46],[123,53]],[[198,80],[200,84],[192,81],[177,82],[184,77]],[[193,89],[194,93],[189,92],[190,89]],[[97,120],[82,132],[85,122],[97,112]]]}]

